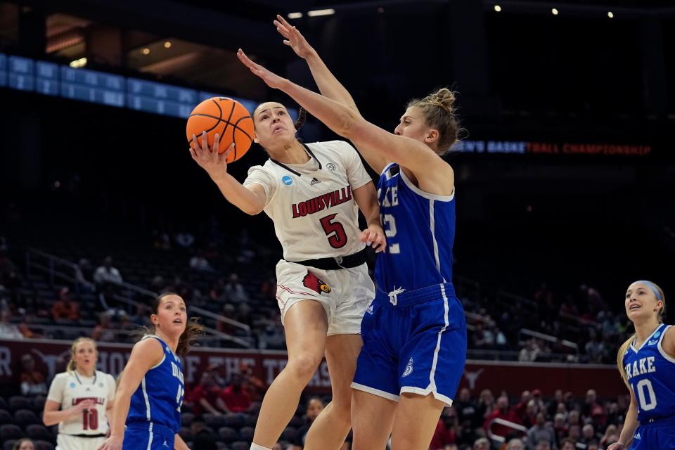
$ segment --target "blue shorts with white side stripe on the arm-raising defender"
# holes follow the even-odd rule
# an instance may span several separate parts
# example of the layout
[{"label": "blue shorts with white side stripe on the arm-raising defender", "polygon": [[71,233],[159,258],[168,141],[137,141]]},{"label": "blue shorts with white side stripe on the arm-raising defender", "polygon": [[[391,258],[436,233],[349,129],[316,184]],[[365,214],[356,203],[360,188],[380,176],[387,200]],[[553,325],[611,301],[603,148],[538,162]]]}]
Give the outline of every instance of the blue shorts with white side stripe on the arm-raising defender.
[{"label": "blue shorts with white side stripe on the arm-raising defender", "polygon": [[451,406],[466,362],[466,320],[451,283],[402,293],[378,289],[361,322],[352,388],[399,400],[403,392]]}]

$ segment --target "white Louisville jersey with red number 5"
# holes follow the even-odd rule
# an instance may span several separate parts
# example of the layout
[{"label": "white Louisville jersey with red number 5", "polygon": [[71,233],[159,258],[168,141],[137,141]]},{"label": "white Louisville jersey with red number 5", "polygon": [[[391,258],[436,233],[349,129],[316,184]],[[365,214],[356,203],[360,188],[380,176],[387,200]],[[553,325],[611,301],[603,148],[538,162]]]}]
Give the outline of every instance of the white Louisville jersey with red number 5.
[{"label": "white Louisville jersey with red number 5", "polygon": [[356,189],[371,183],[359,154],[345,141],[303,144],[304,164],[269,159],[251,167],[244,186],[264,188],[264,212],[274,221],[287,261],[352,255],[359,241]]}]

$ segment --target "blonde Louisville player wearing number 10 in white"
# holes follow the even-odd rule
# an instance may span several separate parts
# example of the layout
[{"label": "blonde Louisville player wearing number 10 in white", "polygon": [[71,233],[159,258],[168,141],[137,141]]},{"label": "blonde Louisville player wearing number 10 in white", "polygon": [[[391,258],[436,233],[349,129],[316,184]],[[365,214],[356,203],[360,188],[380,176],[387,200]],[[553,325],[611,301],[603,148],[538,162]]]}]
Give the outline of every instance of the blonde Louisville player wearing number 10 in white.
[{"label": "blonde Louisville player wearing number 10 in white", "polygon": [[96,371],[97,359],[96,342],[77,338],[70,347],[68,370],[51,382],[42,420],[48,427],[58,423],[58,450],[96,450],[105,440],[115,379]]}]

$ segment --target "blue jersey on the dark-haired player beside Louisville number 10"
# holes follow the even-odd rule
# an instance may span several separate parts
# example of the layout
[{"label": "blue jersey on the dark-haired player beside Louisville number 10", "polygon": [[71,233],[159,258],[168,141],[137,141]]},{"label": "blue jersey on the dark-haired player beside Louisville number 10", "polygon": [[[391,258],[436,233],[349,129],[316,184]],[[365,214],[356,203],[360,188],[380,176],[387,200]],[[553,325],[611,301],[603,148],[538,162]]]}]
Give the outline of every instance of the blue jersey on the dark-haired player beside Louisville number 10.
[{"label": "blue jersey on the dark-haired player beside Louisville number 10", "polygon": [[181,405],[185,394],[181,360],[157,336],[147,335],[143,339],[150,338],[160,341],[164,357],[159,364],[150,368],[131,396],[127,425],[134,422],[152,422],[177,433],[181,429]]}]

